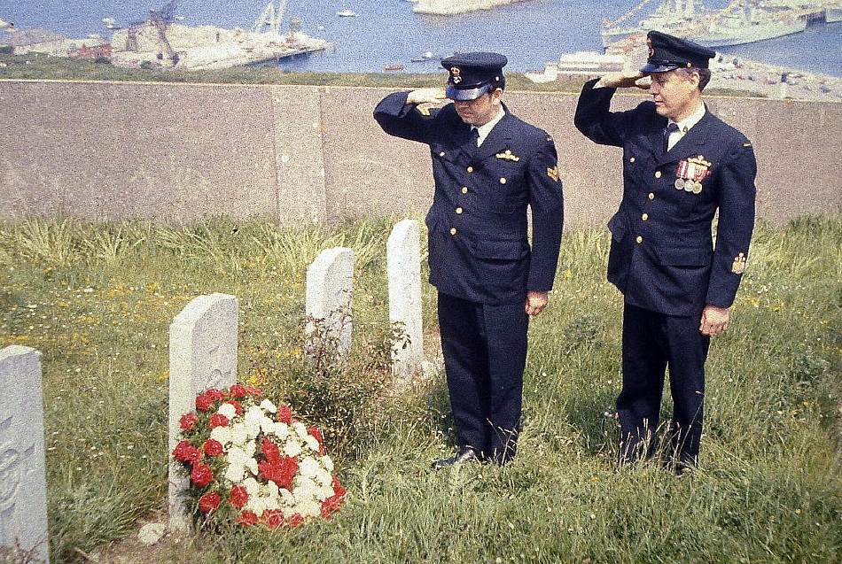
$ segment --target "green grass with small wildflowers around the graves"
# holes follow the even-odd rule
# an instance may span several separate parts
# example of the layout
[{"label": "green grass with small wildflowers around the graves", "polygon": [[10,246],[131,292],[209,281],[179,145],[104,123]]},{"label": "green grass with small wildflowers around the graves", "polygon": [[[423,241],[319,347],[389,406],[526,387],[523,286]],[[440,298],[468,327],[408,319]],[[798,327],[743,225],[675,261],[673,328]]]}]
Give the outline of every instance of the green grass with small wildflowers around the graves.
[{"label": "green grass with small wildflowers around the graves", "polygon": [[[613,464],[621,297],[604,281],[604,229],[565,234],[530,328],[518,459],[431,473],[452,448],[442,376],[384,388],[392,223],[0,220],[0,346],[43,352],[53,561],[82,561],[165,506],[168,325],[214,291],[239,300],[241,381],[328,429],[347,503],[279,534],[198,534],[158,561],[842,560],[842,216],[756,229],[707,365],[702,467],[682,478]],[[339,245],[355,250],[355,358],[315,390],[300,359],[304,274]],[[434,332],[430,287],[423,298]]]}]

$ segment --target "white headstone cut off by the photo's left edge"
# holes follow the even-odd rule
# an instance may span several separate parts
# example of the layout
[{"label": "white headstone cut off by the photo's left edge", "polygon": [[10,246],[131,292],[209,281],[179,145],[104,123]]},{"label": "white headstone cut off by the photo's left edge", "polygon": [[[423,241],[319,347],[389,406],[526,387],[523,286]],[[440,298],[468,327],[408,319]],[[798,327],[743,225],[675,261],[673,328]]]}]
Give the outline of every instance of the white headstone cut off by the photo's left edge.
[{"label": "white headstone cut off by the photo's left edge", "polygon": [[50,560],[41,380],[40,352],[0,351],[0,552],[31,552],[34,562]]}]

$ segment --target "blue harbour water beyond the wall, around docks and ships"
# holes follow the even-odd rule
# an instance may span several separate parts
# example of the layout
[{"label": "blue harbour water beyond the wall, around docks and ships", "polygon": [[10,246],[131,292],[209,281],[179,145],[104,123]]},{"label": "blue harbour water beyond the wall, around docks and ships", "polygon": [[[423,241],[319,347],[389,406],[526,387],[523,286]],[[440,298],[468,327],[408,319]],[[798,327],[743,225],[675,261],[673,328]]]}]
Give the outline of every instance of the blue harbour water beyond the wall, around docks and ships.
[{"label": "blue harbour water beyond the wall, around docks and ships", "polygon": [[[250,28],[269,0],[182,0],[175,11],[190,26]],[[298,16],[303,31],[335,42],[322,55],[283,62],[295,71],[370,72],[403,66],[406,72],[438,72],[434,60],[412,62],[425,51],[447,56],[454,50],[505,53],[513,71],[542,69],[563,52],[602,50],[603,18],[616,19],[639,0],[528,0],[456,16],[412,12],[406,0],[288,0],[285,19]],[[67,37],[107,35],[102,19],[127,25],[146,19],[165,0],[0,0],[0,19],[17,27],[46,27]],[[276,2],[276,4],[279,4]],[[655,4],[652,2],[651,4]],[[721,8],[728,0],[708,0]],[[358,17],[341,18],[342,9]],[[721,48],[734,57],[842,76],[842,22],[818,24],[778,39]]]}]

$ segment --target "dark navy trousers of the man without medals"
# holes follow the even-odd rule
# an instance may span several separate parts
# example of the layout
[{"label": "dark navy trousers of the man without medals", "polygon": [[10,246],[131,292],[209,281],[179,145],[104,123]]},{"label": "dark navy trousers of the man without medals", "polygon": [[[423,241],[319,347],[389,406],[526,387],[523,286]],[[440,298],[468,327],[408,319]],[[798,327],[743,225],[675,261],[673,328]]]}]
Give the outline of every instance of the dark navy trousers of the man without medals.
[{"label": "dark navy trousers of the man without medals", "polygon": [[439,293],[441,352],[460,447],[505,463],[515,455],[526,365],[524,302],[487,305]]}]

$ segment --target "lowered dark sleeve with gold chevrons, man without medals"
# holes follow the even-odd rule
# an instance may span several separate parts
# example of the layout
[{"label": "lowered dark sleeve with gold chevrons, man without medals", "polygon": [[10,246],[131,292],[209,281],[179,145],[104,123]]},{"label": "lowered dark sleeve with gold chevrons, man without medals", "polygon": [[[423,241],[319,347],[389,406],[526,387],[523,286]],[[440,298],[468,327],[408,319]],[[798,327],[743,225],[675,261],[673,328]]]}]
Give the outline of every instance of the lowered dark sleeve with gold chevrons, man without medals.
[{"label": "lowered dark sleeve with gold chevrons, man without medals", "polygon": [[564,199],[556,146],[542,132],[540,149],[529,162],[529,207],[532,210],[532,259],[527,290],[552,290],[564,223]]}]

